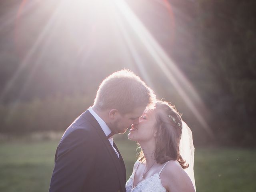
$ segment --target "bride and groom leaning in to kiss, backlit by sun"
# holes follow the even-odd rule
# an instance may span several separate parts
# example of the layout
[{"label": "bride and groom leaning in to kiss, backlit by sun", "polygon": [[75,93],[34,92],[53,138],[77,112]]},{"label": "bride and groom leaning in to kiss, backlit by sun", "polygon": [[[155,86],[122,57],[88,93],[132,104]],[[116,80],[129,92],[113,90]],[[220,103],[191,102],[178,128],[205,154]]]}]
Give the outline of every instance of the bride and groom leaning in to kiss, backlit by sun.
[{"label": "bride and groom leaning in to kiss, backlit by sun", "polygon": [[[112,136],[128,128],[141,152],[126,182]],[[192,133],[174,106],[121,70],[102,81],[93,106],[64,132],[49,192],[194,192],[193,164]]]}]

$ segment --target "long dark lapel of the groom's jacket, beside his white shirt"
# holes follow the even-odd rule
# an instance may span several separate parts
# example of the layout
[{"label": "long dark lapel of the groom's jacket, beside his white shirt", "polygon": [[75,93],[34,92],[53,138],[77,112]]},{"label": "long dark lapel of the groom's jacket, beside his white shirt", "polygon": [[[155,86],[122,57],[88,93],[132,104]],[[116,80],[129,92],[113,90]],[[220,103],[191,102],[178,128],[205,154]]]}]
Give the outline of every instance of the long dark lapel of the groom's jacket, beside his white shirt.
[{"label": "long dark lapel of the groom's jacket, beside his white shirt", "polygon": [[[126,191],[125,190],[125,182],[126,182],[126,177],[124,177],[124,173],[123,173],[123,168],[120,164],[120,159],[118,158],[118,156],[116,155],[116,152],[114,151],[114,149],[112,148],[108,138],[106,137],[105,133],[103,132],[102,128],[100,127],[100,125],[98,124],[97,120],[94,118],[94,116],[92,116],[92,114],[86,110],[82,116],[87,119],[91,124],[92,126],[94,126],[94,128],[96,129],[98,135],[100,136],[101,140],[103,141],[104,143],[104,146],[106,147],[106,149],[108,150],[108,152],[110,153],[110,156],[114,162],[114,165],[116,167],[116,172],[118,173],[118,178],[119,178],[119,181],[120,181],[120,186],[122,187],[122,191]],[[116,146],[116,145],[115,145]],[[116,147],[116,150],[117,147]],[[120,158],[122,158],[120,152],[118,151],[119,155],[120,155]],[[122,159],[122,162],[123,159]],[[124,168],[125,169],[125,168]]]}]

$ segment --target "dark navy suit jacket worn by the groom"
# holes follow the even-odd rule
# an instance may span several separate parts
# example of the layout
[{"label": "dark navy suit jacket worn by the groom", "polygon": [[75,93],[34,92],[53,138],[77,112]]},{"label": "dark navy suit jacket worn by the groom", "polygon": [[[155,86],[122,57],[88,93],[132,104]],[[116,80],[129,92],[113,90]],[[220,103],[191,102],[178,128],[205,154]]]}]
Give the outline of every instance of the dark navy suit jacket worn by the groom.
[{"label": "dark navy suit jacket worn by the groom", "polygon": [[126,192],[124,160],[86,110],[65,131],[55,154],[49,192]]}]

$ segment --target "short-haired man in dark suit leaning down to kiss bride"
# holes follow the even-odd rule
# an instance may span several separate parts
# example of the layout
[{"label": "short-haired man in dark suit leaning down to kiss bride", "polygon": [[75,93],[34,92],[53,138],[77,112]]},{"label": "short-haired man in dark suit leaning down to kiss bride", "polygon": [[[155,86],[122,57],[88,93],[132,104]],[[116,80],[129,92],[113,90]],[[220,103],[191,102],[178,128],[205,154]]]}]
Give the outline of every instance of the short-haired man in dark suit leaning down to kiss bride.
[{"label": "short-haired man in dark suit leaning down to kiss bride", "polygon": [[103,80],[94,105],[60,140],[49,192],[125,192],[124,160],[111,136],[126,132],[154,99],[154,92],[131,71]]}]

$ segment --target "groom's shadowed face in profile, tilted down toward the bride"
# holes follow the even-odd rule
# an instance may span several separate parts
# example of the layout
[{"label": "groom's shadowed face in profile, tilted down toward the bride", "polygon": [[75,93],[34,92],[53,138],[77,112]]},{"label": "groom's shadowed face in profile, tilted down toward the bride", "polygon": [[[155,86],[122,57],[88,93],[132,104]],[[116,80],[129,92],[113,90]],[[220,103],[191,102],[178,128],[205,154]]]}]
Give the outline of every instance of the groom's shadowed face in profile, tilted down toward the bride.
[{"label": "groom's shadowed face in profile, tilted down toward the bride", "polygon": [[112,131],[115,133],[123,134],[132,125],[134,122],[139,120],[139,117],[144,112],[145,107],[135,108],[132,112],[123,114],[116,118],[116,121],[113,123]]}]

